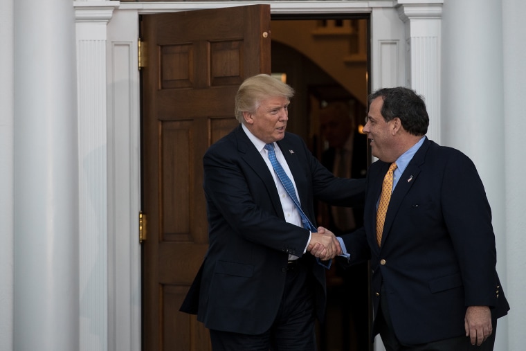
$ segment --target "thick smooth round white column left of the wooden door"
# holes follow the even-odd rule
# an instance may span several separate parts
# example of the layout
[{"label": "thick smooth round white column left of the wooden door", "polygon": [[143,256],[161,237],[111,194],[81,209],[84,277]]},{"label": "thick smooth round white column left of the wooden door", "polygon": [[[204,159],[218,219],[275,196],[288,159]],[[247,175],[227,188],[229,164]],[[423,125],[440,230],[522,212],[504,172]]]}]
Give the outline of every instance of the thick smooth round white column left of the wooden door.
[{"label": "thick smooth round white column left of the wooden door", "polygon": [[71,2],[17,0],[13,350],[78,350],[78,154]]}]

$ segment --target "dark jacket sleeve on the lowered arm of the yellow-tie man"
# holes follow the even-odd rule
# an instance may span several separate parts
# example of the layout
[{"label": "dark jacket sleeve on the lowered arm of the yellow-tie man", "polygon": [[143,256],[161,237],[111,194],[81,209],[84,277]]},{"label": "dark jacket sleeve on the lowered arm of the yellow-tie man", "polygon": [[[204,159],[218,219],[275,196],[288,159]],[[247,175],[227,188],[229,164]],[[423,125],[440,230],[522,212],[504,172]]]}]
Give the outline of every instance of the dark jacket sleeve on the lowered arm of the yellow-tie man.
[{"label": "dark jacket sleeve on the lowered arm of the yellow-tie man", "polygon": [[496,305],[491,209],[475,165],[461,152],[451,152],[444,168],[442,213],[459,262],[465,305]]}]

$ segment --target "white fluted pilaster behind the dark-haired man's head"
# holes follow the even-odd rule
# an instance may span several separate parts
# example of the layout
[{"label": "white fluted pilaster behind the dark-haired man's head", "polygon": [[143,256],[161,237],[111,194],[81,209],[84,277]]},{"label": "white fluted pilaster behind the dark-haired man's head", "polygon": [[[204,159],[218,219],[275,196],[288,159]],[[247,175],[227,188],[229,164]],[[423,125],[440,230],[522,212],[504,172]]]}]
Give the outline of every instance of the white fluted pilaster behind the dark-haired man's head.
[{"label": "white fluted pilaster behind the dark-haired man's head", "polygon": [[428,137],[440,143],[440,48],[443,0],[398,0],[406,24],[407,81],[424,96],[429,114]]}]

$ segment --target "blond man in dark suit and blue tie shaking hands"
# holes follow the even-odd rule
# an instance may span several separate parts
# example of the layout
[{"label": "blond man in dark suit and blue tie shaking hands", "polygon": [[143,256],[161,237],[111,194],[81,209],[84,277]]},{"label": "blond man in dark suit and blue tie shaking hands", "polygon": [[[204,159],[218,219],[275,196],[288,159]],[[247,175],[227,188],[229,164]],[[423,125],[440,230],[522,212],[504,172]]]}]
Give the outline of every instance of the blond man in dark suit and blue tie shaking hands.
[{"label": "blond man in dark suit and blue tie shaking hands", "polygon": [[239,127],[203,158],[209,247],[181,311],[197,313],[214,350],[316,350],[325,269],[341,249],[313,226],[314,199],[363,205],[365,181],[334,177],[285,132],[292,96],[269,75],[245,80]]}]

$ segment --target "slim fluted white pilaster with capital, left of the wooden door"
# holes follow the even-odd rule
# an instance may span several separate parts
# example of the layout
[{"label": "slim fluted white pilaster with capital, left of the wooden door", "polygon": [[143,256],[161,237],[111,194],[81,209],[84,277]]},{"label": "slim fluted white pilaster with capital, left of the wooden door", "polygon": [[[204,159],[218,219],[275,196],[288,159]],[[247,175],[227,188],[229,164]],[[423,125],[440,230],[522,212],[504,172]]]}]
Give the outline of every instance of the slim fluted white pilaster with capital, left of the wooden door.
[{"label": "slim fluted white pilaster with capital, left of the wooden door", "polygon": [[75,1],[80,351],[108,350],[107,23],[118,1]]}]

